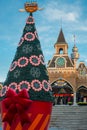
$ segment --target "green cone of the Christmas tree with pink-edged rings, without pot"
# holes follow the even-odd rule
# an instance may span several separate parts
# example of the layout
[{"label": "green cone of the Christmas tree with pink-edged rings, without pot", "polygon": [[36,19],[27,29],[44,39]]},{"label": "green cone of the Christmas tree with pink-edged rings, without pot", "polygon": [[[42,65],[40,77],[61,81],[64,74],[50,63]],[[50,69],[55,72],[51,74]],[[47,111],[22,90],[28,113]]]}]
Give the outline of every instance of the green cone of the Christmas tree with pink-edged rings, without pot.
[{"label": "green cone of the Christmas tree with pink-edged rings, without pot", "polygon": [[52,101],[51,86],[32,13],[27,18],[23,35],[8,72],[2,96],[8,88],[17,93],[27,89],[32,100]]}]

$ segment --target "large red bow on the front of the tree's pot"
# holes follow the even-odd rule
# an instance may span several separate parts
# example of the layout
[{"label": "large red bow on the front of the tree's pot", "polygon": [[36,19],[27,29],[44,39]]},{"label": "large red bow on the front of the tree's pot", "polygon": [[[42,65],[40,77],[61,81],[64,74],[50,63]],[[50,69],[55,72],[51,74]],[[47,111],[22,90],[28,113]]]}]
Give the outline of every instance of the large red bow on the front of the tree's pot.
[{"label": "large red bow on the front of the tree's pot", "polygon": [[9,89],[6,93],[6,98],[2,103],[7,110],[6,115],[2,119],[3,122],[6,121],[11,125],[17,115],[19,116],[22,125],[30,122],[27,110],[29,109],[32,100],[29,99],[26,89],[23,89],[18,94],[12,89]]}]

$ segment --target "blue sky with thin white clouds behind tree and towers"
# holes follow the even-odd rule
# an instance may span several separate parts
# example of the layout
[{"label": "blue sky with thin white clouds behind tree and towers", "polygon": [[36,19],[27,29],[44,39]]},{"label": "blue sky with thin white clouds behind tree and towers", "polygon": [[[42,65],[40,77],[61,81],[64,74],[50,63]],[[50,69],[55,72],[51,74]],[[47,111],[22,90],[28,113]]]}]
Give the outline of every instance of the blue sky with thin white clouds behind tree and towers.
[{"label": "blue sky with thin white clouds behind tree and towers", "polygon": [[[28,1],[28,0],[27,0]],[[26,0],[0,0],[0,82],[6,79],[28,13],[19,12]],[[60,29],[68,43],[69,56],[74,46],[80,61],[87,66],[87,0],[37,0],[42,11],[33,14],[45,62],[52,59]]]}]

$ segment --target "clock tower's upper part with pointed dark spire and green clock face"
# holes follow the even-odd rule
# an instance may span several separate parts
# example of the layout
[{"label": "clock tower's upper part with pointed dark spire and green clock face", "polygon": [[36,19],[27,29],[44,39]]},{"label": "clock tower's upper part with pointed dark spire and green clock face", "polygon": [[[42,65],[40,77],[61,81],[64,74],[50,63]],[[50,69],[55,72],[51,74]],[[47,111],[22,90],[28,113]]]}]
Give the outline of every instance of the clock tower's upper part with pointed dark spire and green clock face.
[{"label": "clock tower's upper part with pointed dark spire and green clock face", "polygon": [[[65,40],[62,28],[58,35],[57,41],[54,45],[55,54],[48,63],[48,68],[66,69],[67,67],[73,67],[73,62],[68,56],[68,44]],[[60,74],[59,74],[60,75]]]}]

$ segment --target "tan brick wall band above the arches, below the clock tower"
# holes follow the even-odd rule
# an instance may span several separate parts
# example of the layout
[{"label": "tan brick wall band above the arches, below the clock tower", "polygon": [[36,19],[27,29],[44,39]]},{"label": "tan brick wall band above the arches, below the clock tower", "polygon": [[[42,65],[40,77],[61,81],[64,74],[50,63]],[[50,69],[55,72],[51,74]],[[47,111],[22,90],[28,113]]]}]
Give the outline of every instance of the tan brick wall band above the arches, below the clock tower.
[{"label": "tan brick wall band above the arches, below the clock tower", "polygon": [[47,68],[47,70],[51,84],[59,78],[62,78],[72,86],[73,92],[76,92],[81,86],[87,88],[87,76],[78,75],[76,70],[60,70],[57,68]]}]

